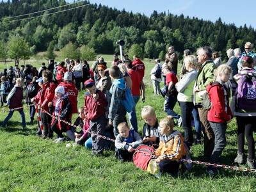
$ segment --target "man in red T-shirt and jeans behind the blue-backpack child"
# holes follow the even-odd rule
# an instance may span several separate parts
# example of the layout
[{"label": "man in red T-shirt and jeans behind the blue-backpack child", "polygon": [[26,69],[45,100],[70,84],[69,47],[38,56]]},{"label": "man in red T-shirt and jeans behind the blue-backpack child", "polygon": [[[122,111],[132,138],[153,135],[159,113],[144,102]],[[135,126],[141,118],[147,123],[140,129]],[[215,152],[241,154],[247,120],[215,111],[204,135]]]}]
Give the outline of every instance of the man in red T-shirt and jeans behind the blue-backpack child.
[{"label": "man in red T-shirt and jeans behind the blue-backpack child", "polygon": [[131,122],[132,128],[134,131],[138,132],[138,122],[136,116],[136,104],[140,100],[140,81],[141,77],[138,72],[132,69],[132,62],[129,60],[124,61],[125,66],[128,69],[128,74],[132,80],[132,97],[134,100],[134,107],[132,108],[131,113],[128,113],[129,120]]}]

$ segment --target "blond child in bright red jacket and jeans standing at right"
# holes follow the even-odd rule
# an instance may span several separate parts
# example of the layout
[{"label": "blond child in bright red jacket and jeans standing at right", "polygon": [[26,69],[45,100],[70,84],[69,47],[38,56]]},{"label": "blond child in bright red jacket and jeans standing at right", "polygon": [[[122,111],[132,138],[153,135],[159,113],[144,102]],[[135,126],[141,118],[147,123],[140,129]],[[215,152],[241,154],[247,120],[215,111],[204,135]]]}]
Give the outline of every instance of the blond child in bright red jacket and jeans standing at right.
[{"label": "blond child in bright red jacket and jeans standing at right", "polygon": [[[208,112],[207,120],[209,120],[212,131],[214,132],[214,150],[210,158],[211,163],[220,163],[221,153],[226,146],[226,129],[227,124],[232,119],[232,112],[228,106],[228,89],[225,83],[228,81],[232,68],[228,65],[220,65],[216,69],[216,80],[207,86],[211,100],[211,109]],[[210,175],[216,174],[218,171],[213,166],[208,166],[207,172]]]}]

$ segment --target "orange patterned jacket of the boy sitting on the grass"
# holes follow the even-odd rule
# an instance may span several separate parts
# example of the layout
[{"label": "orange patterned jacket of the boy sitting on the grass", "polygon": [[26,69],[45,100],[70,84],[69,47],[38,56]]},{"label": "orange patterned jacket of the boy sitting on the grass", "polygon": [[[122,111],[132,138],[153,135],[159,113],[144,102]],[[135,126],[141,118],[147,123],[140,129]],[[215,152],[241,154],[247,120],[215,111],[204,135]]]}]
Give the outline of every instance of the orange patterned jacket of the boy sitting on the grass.
[{"label": "orange patterned jacket of the boy sitting on the grass", "polygon": [[162,156],[164,159],[172,161],[179,161],[186,155],[186,148],[184,146],[184,139],[179,131],[174,131],[167,136],[167,140],[164,140],[164,136],[161,136],[159,147],[157,148],[155,155],[157,157]]}]

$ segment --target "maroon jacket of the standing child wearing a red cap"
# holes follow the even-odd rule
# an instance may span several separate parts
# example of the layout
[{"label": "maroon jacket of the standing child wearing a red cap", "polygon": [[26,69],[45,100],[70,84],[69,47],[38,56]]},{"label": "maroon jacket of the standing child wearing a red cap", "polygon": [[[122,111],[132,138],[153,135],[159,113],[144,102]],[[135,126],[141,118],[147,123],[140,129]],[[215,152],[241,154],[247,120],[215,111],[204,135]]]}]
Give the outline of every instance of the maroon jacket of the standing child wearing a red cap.
[{"label": "maroon jacket of the standing child wearing a red cap", "polygon": [[92,95],[84,96],[84,113],[88,120],[96,120],[102,115],[105,115],[108,102],[105,95],[99,90],[96,91],[99,98],[93,99]]}]

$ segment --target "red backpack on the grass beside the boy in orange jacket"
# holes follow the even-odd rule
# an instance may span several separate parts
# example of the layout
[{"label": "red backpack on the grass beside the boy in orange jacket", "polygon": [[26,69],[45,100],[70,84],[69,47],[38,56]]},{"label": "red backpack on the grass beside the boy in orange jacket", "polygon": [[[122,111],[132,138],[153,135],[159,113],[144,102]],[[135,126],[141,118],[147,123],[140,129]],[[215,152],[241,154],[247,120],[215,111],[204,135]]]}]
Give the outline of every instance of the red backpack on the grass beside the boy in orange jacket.
[{"label": "red backpack on the grass beside the boy in orange jacket", "polygon": [[147,170],[148,163],[154,155],[154,148],[148,145],[140,145],[133,154],[133,164],[141,170]]}]

